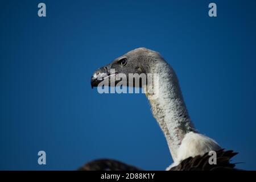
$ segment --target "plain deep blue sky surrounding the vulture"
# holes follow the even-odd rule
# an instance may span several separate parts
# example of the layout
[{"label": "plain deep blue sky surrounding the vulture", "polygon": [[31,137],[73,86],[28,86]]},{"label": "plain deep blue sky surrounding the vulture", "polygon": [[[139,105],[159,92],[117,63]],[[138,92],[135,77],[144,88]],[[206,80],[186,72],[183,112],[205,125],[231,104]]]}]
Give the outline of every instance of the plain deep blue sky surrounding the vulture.
[{"label": "plain deep blue sky surrounding the vulture", "polygon": [[171,164],[143,94],[90,88],[96,68],[138,47],[174,67],[197,129],[240,152],[238,168],[256,169],[256,1],[213,1],[217,18],[210,2],[1,1],[0,169]]}]

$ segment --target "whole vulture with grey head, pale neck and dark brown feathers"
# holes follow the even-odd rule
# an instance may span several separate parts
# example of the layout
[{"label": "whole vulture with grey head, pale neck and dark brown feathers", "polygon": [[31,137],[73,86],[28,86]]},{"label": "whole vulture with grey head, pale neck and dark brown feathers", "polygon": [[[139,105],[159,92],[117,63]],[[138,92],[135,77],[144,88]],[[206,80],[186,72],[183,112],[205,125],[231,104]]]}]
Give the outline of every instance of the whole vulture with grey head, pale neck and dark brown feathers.
[{"label": "whole vulture with grey head, pale neck and dark brown feathers", "polygon": [[[130,77],[132,74],[133,77]],[[157,79],[141,75],[154,75]],[[126,82],[123,79],[126,77]],[[137,85],[135,84],[137,81]],[[151,105],[151,111],[167,140],[174,163],[166,170],[234,170],[235,164],[230,159],[236,155],[232,150],[225,151],[213,139],[200,134],[189,117],[181,93],[179,81],[174,69],[156,51],[137,48],[115,59],[112,63],[97,69],[91,77],[91,86],[135,85],[143,88]],[[216,153],[216,163],[210,164],[210,151]],[[93,160],[80,170],[126,170],[140,168],[112,159]]]}]

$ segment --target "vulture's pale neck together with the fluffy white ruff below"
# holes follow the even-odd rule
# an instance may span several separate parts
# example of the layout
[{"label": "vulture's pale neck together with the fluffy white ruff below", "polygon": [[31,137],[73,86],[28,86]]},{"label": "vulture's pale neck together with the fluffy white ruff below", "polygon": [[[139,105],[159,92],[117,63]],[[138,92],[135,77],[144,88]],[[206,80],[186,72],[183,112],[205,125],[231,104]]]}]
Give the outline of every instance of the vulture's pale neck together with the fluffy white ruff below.
[{"label": "vulture's pale neck together with the fluffy white ruff below", "polygon": [[220,146],[213,139],[199,134],[193,126],[174,70],[160,55],[155,60],[150,68],[151,73],[159,73],[159,82],[153,86],[159,88],[159,97],[149,101],[174,160],[170,167],[189,156],[219,150]]}]

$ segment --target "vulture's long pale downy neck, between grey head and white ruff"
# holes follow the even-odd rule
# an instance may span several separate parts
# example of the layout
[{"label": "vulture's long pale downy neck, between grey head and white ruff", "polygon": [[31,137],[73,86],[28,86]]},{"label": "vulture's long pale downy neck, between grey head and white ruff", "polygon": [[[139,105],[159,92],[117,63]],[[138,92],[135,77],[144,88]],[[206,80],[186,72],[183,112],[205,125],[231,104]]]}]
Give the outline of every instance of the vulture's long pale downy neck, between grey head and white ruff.
[{"label": "vulture's long pale downy neck, between grey head and white ruff", "polygon": [[[189,131],[195,131],[189,118],[179,82],[174,70],[165,61],[158,61],[151,67],[151,73],[158,73],[159,79],[153,82],[152,90],[158,95],[148,100],[154,117],[158,121],[167,139],[172,159],[176,160],[184,135]],[[156,91],[156,89],[158,89]]]}]

